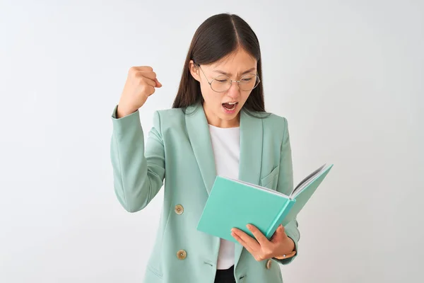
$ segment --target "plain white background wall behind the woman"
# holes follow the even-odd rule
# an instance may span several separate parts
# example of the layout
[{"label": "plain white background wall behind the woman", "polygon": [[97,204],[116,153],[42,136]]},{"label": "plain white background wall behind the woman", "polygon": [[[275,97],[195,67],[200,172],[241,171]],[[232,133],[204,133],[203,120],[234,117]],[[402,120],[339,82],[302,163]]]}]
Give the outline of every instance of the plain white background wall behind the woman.
[{"label": "plain white background wall behind the woman", "polygon": [[[57,3],[61,4],[57,4]],[[196,28],[257,33],[266,108],[287,117],[299,215],[285,282],[424,282],[423,1],[0,1],[0,282],[140,282],[163,191],[136,214],[112,182],[110,115],[129,67],[170,108]]]}]

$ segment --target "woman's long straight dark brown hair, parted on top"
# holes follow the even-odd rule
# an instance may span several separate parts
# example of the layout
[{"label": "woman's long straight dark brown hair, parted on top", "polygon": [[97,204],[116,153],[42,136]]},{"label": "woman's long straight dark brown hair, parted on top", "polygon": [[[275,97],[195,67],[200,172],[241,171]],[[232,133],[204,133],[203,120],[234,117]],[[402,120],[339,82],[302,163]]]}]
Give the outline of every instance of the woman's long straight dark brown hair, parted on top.
[{"label": "woman's long straight dark brown hair, parted on top", "polygon": [[211,64],[240,47],[257,59],[257,71],[261,80],[261,83],[250,93],[243,108],[249,112],[265,112],[259,40],[248,23],[240,16],[230,13],[211,16],[197,28],[185,59],[172,108],[187,108],[196,103],[203,103],[200,83],[190,74],[190,60],[196,64]]}]

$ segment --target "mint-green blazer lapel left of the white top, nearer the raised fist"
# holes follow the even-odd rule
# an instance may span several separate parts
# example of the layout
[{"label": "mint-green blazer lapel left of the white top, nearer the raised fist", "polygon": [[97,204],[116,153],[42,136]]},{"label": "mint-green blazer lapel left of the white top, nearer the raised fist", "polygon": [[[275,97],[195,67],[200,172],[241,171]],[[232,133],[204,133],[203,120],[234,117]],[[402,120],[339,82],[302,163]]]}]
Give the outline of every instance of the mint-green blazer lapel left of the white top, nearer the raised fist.
[{"label": "mint-green blazer lapel left of the white top, nearer the raised fist", "polygon": [[213,182],[216,178],[215,157],[213,156],[211,133],[209,132],[208,120],[201,105],[192,105],[187,108],[185,115],[187,133],[201,177],[208,195],[211,193]]}]

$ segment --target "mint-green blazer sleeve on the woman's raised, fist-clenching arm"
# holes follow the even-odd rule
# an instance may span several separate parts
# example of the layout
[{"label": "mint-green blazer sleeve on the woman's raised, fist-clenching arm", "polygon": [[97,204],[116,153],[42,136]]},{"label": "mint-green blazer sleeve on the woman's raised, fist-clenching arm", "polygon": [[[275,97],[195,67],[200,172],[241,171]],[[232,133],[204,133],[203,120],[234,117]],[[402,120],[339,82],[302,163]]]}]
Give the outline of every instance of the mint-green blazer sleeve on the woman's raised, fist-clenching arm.
[{"label": "mint-green blazer sleeve on the woman's raised, fist-clenching arm", "polygon": [[112,113],[110,158],[114,192],[128,212],[138,212],[158,194],[165,178],[165,151],[160,133],[160,116],[153,114],[153,127],[148,133],[146,149],[139,110],[117,118],[117,105]]}]

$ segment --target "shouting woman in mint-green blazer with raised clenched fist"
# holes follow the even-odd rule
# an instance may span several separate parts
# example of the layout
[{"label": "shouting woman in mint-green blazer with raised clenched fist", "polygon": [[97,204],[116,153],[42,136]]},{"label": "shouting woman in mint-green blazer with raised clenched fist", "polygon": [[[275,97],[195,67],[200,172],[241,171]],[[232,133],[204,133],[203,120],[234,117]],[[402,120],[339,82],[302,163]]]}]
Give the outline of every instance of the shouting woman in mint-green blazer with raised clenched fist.
[{"label": "shouting woman in mint-green blazer with raised clenched fist", "polygon": [[287,120],[264,110],[257,36],[235,15],[202,23],[172,109],[154,112],[145,145],[139,108],[161,86],[151,67],[132,67],[112,114],[114,190],[122,206],[140,211],[165,180],[144,282],[283,282],[278,265],[297,256],[296,220],[270,240],[254,226],[255,238],[234,229],[237,243],[196,230],[216,175],[293,190]]}]

